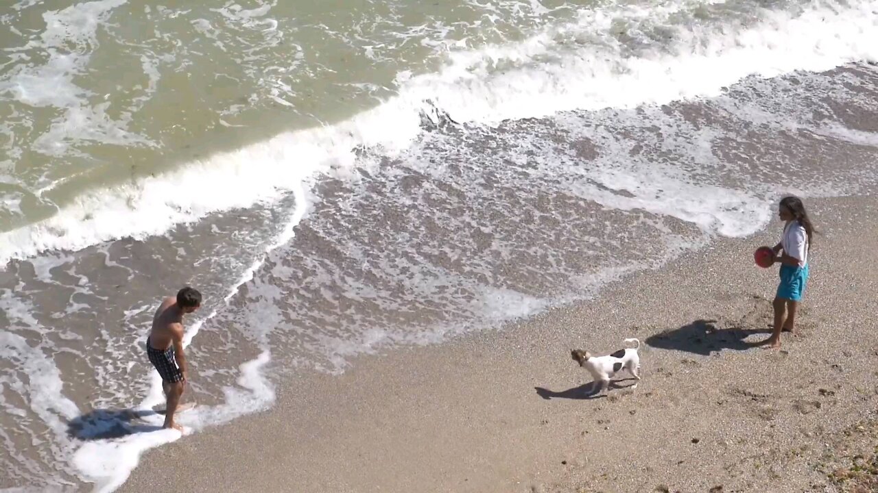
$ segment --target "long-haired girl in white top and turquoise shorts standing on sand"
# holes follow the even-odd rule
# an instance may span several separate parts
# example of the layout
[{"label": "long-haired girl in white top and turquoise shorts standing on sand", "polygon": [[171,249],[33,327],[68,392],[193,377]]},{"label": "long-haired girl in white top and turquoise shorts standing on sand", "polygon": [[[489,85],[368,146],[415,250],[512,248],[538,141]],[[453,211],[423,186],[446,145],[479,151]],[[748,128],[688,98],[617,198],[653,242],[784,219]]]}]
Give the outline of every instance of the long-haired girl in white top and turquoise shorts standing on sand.
[{"label": "long-haired girl in white top and turquoise shorts standing on sand", "polygon": [[781,347],[781,331],[795,335],[795,311],[808,282],[808,250],[815,232],[799,197],[783,197],[778,215],[786,225],[781,242],[773,248],[774,263],[781,264],[781,283],[774,297],[774,332],[765,341],[769,349]]}]

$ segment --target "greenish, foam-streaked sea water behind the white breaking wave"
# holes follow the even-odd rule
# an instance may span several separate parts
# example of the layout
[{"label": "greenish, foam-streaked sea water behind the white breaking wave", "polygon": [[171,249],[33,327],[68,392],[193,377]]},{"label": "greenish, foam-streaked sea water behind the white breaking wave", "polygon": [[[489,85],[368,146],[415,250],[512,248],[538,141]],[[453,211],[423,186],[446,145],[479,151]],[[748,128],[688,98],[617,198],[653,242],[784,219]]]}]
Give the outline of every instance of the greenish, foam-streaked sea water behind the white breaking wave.
[{"label": "greenish, foam-streaked sea water behind the white breaking wave", "polygon": [[571,18],[559,2],[154,2],[0,7],[0,192],[47,218],[85,189],[162,172],[392,96],[450,49]]}]

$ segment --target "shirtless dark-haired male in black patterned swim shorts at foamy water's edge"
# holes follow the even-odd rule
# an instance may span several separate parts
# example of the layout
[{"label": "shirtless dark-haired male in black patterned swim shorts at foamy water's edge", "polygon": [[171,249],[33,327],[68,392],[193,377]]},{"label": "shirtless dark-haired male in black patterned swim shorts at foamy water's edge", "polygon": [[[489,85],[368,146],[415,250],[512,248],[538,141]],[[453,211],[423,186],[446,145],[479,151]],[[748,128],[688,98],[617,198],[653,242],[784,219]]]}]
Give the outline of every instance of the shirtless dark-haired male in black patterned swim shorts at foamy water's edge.
[{"label": "shirtless dark-haired male in black patterned swim shorts at foamy water's edge", "polygon": [[153,328],[147,338],[149,362],[162,375],[162,389],[168,399],[165,408],[165,428],[183,431],[183,426],[174,422],[176,407],[186,384],[186,356],[183,353],[183,316],[198,310],[201,306],[201,293],[186,286],[176,294],[167,297],[155,311]]}]

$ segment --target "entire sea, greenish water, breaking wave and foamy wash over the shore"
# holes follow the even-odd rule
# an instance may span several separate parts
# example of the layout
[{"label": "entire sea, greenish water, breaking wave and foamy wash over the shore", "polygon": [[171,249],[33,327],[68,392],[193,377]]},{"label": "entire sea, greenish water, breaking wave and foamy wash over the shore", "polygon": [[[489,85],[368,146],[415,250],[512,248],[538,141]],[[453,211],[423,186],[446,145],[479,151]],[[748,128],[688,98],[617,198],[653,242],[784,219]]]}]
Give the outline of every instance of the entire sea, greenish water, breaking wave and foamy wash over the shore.
[{"label": "entire sea, greenish water, breaking wave and foamy wash over the shore", "polygon": [[875,1],[25,0],[0,21],[0,489],[112,491],[181,438],[143,343],[183,285],[205,294],[198,432],[291,375],[745,237],[781,194],[878,182]]}]

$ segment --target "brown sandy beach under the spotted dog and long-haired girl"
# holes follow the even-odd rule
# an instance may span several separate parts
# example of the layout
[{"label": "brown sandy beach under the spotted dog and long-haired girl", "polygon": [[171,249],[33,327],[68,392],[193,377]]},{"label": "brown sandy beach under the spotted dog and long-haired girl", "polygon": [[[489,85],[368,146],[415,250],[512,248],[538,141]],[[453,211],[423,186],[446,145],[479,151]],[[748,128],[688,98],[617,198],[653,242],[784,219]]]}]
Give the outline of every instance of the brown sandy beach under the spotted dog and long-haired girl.
[{"label": "brown sandy beach under the spotted dog and long-haired girl", "polygon": [[[751,255],[775,222],[594,301],[303,374],[270,411],[148,453],[121,490],[838,490],[876,444],[878,200],[807,204],[824,234],[781,351],[748,344],[770,323],[777,272]],[[585,398],[570,349],[625,337],[644,342],[644,381]]]}]

